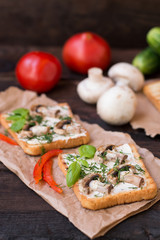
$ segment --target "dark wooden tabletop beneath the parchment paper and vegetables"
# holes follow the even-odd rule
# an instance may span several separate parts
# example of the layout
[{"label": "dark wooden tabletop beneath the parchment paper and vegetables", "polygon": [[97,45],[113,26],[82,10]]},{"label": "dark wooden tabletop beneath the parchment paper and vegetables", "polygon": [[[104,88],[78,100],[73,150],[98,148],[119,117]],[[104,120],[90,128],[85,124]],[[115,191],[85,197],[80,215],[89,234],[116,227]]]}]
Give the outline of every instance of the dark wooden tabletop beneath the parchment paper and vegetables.
[{"label": "dark wooden tabletop beneath the parchment paper and vegetables", "polygon": [[[40,49],[53,53],[61,60],[60,48],[0,47],[0,91],[9,86],[20,87],[14,75],[17,60],[24,53]],[[131,62],[138,50],[112,51],[112,64],[120,61]],[[160,76],[160,75],[159,75]],[[160,158],[160,136],[147,137],[143,130],[133,130],[129,124],[114,127],[103,122],[96,114],[96,106],[82,102],[76,86],[85,76],[69,71],[63,65],[59,84],[47,96],[59,102],[67,101],[75,114],[89,123],[98,123],[105,130],[129,133],[136,143],[148,148]],[[151,76],[158,77],[157,75]],[[0,240],[86,240],[66,217],[54,210],[41,197],[27,188],[19,178],[0,163]],[[149,210],[130,217],[97,239],[112,240],[153,240],[160,239],[160,203]]]}]

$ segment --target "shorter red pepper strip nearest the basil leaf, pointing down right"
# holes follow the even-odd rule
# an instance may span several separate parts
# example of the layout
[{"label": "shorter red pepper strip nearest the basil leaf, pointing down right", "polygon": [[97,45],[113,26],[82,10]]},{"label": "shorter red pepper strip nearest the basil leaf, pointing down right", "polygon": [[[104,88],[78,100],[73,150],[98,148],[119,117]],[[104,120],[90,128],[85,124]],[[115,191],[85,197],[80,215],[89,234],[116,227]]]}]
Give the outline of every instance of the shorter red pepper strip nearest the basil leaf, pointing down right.
[{"label": "shorter red pepper strip nearest the basil leaf, pointing down right", "polygon": [[52,159],[49,159],[43,166],[43,180],[46,181],[49,186],[54,189],[58,193],[62,193],[62,188],[58,187],[57,183],[54,181],[52,177]]}]

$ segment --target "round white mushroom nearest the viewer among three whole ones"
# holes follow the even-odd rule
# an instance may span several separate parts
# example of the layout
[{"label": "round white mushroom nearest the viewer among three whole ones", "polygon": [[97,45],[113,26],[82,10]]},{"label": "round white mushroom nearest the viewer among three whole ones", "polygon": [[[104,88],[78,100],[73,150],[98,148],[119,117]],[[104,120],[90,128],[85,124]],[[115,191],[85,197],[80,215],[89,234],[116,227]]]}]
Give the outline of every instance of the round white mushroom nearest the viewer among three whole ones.
[{"label": "round white mushroom nearest the viewer among three whole ones", "polygon": [[115,86],[105,92],[97,102],[97,113],[107,123],[128,123],[136,111],[135,93],[127,86]]}]

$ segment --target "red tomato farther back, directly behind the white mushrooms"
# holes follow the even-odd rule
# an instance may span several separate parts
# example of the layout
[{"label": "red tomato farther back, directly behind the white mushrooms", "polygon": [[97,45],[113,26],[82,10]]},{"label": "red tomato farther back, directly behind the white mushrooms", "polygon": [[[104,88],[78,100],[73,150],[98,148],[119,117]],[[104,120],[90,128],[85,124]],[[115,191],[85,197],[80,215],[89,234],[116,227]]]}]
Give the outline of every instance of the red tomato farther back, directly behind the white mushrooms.
[{"label": "red tomato farther back, directly behind the white mushrooms", "polygon": [[64,44],[63,60],[70,69],[87,73],[91,67],[108,67],[111,51],[108,43],[99,35],[91,32],[78,33]]}]

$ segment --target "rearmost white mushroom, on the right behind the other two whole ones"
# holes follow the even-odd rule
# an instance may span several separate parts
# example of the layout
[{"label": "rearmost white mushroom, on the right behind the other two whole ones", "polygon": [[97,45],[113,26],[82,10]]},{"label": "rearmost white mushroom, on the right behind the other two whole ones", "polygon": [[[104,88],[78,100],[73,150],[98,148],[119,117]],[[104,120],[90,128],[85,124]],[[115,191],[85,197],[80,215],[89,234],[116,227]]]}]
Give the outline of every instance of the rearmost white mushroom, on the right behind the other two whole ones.
[{"label": "rearmost white mushroom, on the right behind the other two whole ones", "polygon": [[135,92],[140,91],[144,85],[143,74],[129,63],[116,63],[109,69],[108,76],[118,85],[127,85]]}]

